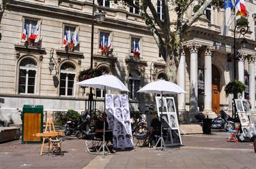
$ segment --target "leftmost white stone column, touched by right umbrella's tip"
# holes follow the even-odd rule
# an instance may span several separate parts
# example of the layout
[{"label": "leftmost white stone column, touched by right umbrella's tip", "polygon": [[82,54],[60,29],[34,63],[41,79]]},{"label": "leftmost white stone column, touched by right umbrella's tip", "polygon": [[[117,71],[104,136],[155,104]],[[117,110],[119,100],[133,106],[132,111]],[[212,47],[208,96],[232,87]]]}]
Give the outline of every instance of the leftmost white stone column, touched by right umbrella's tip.
[{"label": "leftmost white stone column, touched by right umbrella's tip", "polygon": [[[180,55],[180,64],[179,68],[177,69],[178,73],[178,85],[186,91],[186,56],[184,50]],[[186,94],[178,94],[178,107],[179,113],[184,114],[186,112]]]}]

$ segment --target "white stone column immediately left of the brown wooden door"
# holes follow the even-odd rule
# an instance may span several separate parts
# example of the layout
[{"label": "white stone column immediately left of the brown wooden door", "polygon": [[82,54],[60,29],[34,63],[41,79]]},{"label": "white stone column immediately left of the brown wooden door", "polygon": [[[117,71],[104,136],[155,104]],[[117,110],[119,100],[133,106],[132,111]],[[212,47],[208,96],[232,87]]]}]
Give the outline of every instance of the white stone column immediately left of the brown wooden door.
[{"label": "white stone column immediately left of the brown wooden door", "polygon": [[213,119],[216,114],[212,111],[212,51],[208,47],[204,58],[204,109],[203,113]]}]

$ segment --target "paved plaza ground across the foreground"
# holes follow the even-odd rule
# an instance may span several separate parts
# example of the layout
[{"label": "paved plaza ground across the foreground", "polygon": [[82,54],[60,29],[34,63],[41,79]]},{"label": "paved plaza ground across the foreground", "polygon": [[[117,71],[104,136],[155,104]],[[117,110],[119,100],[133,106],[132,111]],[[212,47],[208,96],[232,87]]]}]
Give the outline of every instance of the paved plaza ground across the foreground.
[{"label": "paved plaza ground across the foreground", "polygon": [[253,143],[228,143],[227,132],[182,136],[183,147],[167,151],[137,147],[115,155],[84,152],[85,140],[66,138],[64,155],[40,156],[40,145],[22,145],[20,140],[0,144],[0,168],[256,168]]}]

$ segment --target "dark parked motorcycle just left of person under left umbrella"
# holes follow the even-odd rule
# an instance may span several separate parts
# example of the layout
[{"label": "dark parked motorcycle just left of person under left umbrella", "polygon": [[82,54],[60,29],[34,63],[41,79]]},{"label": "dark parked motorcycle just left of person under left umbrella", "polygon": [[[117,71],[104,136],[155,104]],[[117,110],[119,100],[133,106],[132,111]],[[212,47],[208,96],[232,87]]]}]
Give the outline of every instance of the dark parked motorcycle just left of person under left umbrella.
[{"label": "dark parked motorcycle just left of person under left umbrella", "polygon": [[91,116],[88,112],[83,113],[79,118],[79,124],[77,126],[76,138],[82,139],[89,139],[93,136],[93,133],[90,128],[91,124]]}]

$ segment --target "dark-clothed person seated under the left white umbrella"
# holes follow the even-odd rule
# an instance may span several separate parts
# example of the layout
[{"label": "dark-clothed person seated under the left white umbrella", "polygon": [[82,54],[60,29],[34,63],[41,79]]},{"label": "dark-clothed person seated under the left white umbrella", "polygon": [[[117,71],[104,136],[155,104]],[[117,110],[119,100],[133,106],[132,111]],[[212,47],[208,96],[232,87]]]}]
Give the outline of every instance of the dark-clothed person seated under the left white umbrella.
[{"label": "dark-clothed person seated under the left white umbrella", "polygon": [[109,130],[109,124],[106,121],[106,113],[103,113],[102,116],[95,123],[95,132],[96,138],[103,138],[103,130],[104,130],[104,122],[105,122],[105,141],[111,142],[113,141],[113,132]]}]

